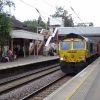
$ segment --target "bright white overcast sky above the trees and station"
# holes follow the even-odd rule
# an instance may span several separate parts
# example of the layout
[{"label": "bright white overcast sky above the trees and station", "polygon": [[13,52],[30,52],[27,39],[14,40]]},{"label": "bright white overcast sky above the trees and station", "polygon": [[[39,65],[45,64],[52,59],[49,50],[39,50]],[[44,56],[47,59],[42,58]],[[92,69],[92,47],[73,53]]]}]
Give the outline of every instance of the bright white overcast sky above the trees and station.
[{"label": "bright white overcast sky above the trees and station", "polygon": [[[93,22],[94,26],[100,26],[100,0],[12,0],[15,10],[11,14],[20,21],[38,19],[39,10],[42,20],[47,21],[50,15],[56,11],[56,7],[62,6],[72,15],[74,23]],[[71,10],[74,9],[73,12]],[[78,16],[77,16],[78,15]]]}]

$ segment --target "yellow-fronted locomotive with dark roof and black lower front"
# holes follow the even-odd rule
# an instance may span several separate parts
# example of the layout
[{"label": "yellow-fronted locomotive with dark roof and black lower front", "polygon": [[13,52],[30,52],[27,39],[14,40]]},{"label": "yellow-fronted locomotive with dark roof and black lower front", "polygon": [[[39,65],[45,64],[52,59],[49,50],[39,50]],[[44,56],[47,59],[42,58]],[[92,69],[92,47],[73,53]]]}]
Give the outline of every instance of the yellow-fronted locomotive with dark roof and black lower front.
[{"label": "yellow-fronted locomotive with dark roof and black lower front", "polygon": [[97,56],[98,44],[88,38],[70,33],[59,41],[61,70],[65,73],[78,73]]}]

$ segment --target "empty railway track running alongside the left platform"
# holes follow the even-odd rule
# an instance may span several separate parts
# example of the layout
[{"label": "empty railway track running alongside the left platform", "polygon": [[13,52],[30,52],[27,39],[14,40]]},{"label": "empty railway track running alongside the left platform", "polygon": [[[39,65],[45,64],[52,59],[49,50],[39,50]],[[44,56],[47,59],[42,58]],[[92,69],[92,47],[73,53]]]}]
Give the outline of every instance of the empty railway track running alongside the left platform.
[{"label": "empty railway track running alongside the left platform", "polygon": [[22,84],[30,82],[31,80],[36,80],[38,78],[41,78],[42,76],[45,76],[59,69],[60,67],[58,67],[57,65],[53,65],[53,66],[48,66],[46,68],[33,70],[24,74],[19,74],[17,76],[12,76],[2,79],[0,83],[0,94],[2,94],[5,91],[9,91],[14,87],[18,87]]}]

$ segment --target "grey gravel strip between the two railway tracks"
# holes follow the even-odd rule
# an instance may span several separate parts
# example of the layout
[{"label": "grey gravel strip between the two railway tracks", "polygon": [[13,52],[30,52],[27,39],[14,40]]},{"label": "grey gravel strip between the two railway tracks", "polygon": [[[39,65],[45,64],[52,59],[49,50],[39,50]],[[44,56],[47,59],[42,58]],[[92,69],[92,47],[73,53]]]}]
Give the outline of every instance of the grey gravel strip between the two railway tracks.
[{"label": "grey gravel strip between the two railway tracks", "polygon": [[39,88],[43,87],[44,85],[47,85],[48,83],[51,83],[55,79],[59,79],[60,77],[64,76],[65,74],[61,71],[57,71],[55,73],[52,73],[50,75],[47,75],[39,80],[33,81],[28,83],[27,85],[24,85],[20,88],[17,88],[13,91],[10,91],[6,94],[3,94],[0,96],[0,100],[19,100],[23,97],[29,95],[30,93],[37,91]]}]

